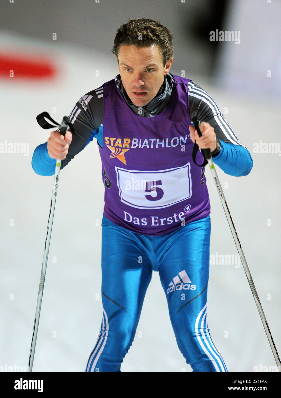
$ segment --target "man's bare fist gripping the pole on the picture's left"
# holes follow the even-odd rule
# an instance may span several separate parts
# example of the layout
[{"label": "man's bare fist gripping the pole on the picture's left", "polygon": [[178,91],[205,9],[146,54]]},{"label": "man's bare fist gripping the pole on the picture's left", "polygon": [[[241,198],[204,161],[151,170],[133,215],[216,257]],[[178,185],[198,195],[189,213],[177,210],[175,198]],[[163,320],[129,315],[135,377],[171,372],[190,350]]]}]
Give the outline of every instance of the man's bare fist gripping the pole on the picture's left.
[{"label": "man's bare fist gripping the pole on the picture's left", "polygon": [[67,131],[65,136],[59,131],[52,131],[47,140],[47,150],[50,158],[64,160],[72,141],[72,134]]}]

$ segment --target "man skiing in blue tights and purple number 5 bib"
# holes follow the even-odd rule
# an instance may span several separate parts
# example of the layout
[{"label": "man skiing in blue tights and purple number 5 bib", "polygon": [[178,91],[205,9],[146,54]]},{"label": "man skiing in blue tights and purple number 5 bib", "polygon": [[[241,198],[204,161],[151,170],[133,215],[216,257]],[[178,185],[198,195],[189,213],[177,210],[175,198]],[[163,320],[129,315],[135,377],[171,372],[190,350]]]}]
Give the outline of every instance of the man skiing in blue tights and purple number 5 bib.
[{"label": "man skiing in blue tights and purple number 5 bib", "polygon": [[249,174],[253,161],[213,98],[169,72],[172,52],[172,33],[158,21],[121,25],[112,49],[120,74],[79,99],[69,116],[73,134],[53,131],[33,154],[33,170],[51,176],[56,159],[62,169],[94,137],[99,145],[103,318],[87,372],[120,372],[152,271],[186,362],[194,372],[227,372],[207,326],[210,204],[194,143],[232,176]]}]

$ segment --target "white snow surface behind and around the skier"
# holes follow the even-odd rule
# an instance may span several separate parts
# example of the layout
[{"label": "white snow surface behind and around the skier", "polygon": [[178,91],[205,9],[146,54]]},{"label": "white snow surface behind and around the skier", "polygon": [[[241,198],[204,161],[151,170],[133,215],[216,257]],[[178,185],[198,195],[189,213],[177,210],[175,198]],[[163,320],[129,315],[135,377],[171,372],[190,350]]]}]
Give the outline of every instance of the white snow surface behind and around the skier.
[{"label": "white snow surface behind and around the skier", "polygon": [[[53,176],[39,176],[31,167],[34,149],[46,142],[51,131],[39,127],[36,115],[48,111],[60,122],[82,95],[112,79],[118,69],[111,53],[30,42],[5,32],[2,44],[7,50],[47,54],[60,70],[52,82],[1,81],[0,142],[28,143],[29,153],[0,154],[0,366],[27,367],[53,182]],[[95,76],[97,70],[99,77]],[[254,160],[245,177],[216,170],[280,353],[281,157],[253,153],[254,142],[280,140],[280,104],[253,100],[245,93],[234,96],[202,76],[186,77],[209,92],[221,111],[227,108],[227,121]],[[53,108],[56,114],[52,114]],[[207,168],[205,176],[211,201],[210,253],[238,254]],[[93,140],[60,172],[34,372],[83,372],[95,345],[102,318],[103,195],[101,160]],[[210,265],[207,319],[229,372],[253,372],[254,367],[276,365],[242,265]],[[177,347],[156,272],[121,371],[192,371]]]}]

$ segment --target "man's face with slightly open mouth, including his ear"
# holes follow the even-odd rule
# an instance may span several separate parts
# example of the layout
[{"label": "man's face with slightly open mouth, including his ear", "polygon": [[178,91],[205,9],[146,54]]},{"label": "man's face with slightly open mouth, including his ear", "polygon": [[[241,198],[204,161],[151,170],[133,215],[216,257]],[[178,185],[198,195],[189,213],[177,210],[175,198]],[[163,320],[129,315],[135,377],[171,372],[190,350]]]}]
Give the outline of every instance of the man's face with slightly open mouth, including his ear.
[{"label": "man's face with slightly open mouth, including his ear", "polygon": [[[117,59],[117,58],[116,58]],[[119,64],[118,64],[119,60]],[[118,51],[118,69],[122,84],[130,100],[136,106],[149,103],[164,82],[173,59],[165,66],[158,46],[136,47],[121,45]]]}]

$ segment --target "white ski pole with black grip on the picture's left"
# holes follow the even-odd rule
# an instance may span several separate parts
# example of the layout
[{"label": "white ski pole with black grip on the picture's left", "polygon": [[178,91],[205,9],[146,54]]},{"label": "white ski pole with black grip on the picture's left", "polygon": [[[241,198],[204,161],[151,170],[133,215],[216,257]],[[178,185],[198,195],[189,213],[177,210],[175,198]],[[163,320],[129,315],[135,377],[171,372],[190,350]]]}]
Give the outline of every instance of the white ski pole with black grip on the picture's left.
[{"label": "white ski pole with black grip on the picture's left", "polygon": [[[70,123],[70,120],[68,119],[68,117],[65,116],[62,119],[62,124],[60,126],[60,133],[62,135],[65,135],[68,123]],[[34,324],[33,324],[33,333],[32,333],[31,348],[30,348],[30,355],[29,355],[29,362],[28,362],[28,371],[29,372],[32,372],[32,367],[33,367],[33,359],[34,359],[34,353],[35,353],[35,345],[36,345],[36,339],[37,339],[37,332],[38,332],[38,325],[39,325],[39,318],[40,318],[40,311],[41,311],[41,303],[42,303],[42,297],[43,297],[43,289],[44,289],[45,275],[46,275],[46,269],[47,269],[48,254],[49,254],[50,240],[51,240],[51,234],[52,234],[52,225],[53,225],[53,219],[54,219],[54,207],[56,204],[56,194],[58,191],[58,177],[60,175],[60,165],[61,165],[61,160],[56,160],[56,169],[54,172],[54,182],[53,182],[52,197],[51,197],[50,211],[49,211],[49,217],[48,217],[47,234],[46,234],[46,239],[45,239],[41,277],[40,277],[40,283],[39,283],[39,291],[38,291],[38,297],[37,297],[37,305],[36,305],[36,310],[35,310],[35,319],[34,319]]]}]

